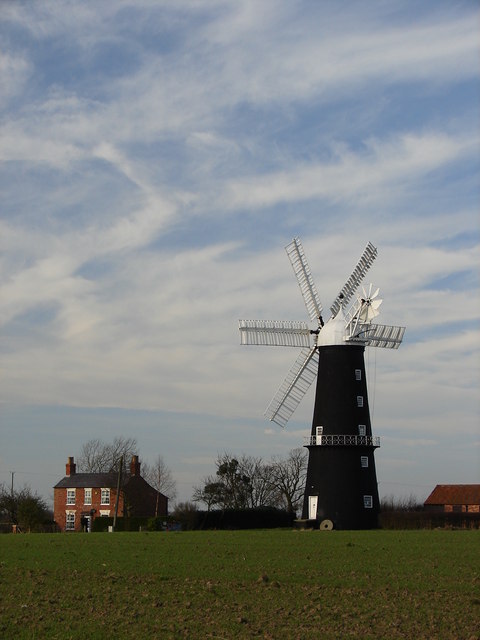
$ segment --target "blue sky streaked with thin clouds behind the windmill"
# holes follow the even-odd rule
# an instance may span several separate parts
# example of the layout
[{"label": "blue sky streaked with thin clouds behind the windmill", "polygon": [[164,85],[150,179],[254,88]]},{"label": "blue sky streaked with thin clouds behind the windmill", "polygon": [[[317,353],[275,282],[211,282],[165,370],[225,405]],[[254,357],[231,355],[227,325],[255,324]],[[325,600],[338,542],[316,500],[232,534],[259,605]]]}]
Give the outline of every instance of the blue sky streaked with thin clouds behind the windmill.
[{"label": "blue sky streaked with thin clouds behind the windmill", "polygon": [[[3,0],[0,483],[47,501],[92,438],[135,437],[177,500],[222,452],[301,447],[263,412],[365,245],[381,496],[480,482],[475,1]],[[328,313],[327,313],[328,317]]]}]

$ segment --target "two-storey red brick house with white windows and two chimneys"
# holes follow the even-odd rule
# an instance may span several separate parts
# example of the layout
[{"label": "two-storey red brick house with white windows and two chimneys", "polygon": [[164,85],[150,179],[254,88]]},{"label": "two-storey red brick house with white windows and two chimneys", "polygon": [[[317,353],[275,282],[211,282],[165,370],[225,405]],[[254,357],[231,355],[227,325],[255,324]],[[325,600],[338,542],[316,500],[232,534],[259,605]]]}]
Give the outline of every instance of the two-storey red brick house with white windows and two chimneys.
[{"label": "two-storey red brick house with white windows and two chimneys", "polygon": [[[61,531],[90,531],[101,516],[114,516],[118,473],[77,473],[73,457],[68,458],[65,477],[53,488],[54,519]],[[140,475],[138,456],[133,456],[130,473],[122,478],[118,517],[166,516],[168,498]]]}]

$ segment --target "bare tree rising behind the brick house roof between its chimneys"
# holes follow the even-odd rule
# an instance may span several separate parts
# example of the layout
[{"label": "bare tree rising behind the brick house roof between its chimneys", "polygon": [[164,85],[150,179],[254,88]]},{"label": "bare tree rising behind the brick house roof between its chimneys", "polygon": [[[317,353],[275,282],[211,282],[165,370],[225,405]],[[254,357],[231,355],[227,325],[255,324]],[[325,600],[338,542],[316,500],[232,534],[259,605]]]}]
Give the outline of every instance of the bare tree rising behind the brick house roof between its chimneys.
[{"label": "bare tree rising behind the brick house roof between its chimneys", "polygon": [[118,436],[111,443],[94,438],[82,446],[80,455],[77,457],[77,467],[84,473],[108,473],[117,471],[119,462],[123,456],[125,467],[136,454],[137,441],[135,438],[124,438]]}]

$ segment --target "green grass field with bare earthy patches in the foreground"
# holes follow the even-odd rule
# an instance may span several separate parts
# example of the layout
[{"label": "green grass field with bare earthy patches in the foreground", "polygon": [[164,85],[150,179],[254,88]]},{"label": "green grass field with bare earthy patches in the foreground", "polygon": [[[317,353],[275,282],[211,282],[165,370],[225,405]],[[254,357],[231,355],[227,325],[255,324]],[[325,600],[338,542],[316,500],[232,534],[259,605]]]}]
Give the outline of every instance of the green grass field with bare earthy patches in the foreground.
[{"label": "green grass field with bare earthy patches in the foreground", "polygon": [[0,638],[480,638],[479,531],[0,537]]}]

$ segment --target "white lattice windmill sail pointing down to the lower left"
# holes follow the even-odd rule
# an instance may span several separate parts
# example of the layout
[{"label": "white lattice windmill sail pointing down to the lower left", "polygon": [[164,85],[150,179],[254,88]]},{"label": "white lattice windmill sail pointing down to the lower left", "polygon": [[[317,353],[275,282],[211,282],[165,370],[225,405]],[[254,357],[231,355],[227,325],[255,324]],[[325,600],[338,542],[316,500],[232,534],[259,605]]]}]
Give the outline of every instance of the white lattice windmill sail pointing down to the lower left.
[{"label": "white lattice windmill sail pointing down to the lower left", "polygon": [[268,405],[265,416],[284,428],[290,416],[315,380],[318,370],[316,347],[303,349],[283,384]]}]

